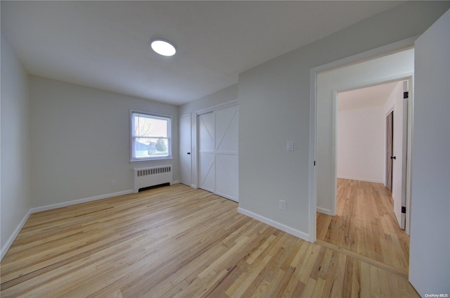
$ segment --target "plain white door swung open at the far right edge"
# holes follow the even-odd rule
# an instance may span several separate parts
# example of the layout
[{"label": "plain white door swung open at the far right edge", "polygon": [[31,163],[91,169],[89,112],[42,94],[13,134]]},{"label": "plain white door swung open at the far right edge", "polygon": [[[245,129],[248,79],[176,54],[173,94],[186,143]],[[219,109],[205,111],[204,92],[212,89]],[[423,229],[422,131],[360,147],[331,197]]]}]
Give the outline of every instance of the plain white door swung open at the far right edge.
[{"label": "plain white door swung open at the far right edge", "polygon": [[409,280],[450,294],[450,11],[416,41]]}]

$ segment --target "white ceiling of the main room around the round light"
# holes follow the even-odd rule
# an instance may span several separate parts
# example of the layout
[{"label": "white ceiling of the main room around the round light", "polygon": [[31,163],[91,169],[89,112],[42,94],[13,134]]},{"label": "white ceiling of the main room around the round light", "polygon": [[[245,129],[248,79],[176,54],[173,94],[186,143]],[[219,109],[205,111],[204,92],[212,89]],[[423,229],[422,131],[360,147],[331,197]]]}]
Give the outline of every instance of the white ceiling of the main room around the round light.
[{"label": "white ceiling of the main room around the round light", "polygon": [[[399,1],[1,1],[30,74],[180,105]],[[165,58],[152,37],[177,47]]]}]

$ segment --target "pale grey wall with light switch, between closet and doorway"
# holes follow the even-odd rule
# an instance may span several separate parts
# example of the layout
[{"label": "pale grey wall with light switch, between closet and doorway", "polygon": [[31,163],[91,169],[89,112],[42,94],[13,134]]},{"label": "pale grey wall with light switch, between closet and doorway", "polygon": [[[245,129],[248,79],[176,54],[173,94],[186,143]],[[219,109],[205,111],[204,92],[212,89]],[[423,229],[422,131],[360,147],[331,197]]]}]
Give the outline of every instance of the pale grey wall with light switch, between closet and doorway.
[{"label": "pale grey wall with light switch, between closet and doorway", "polygon": [[[311,68],[414,37],[448,7],[407,2],[241,73],[240,212],[309,239]],[[294,151],[286,151],[286,141],[294,142]],[[326,199],[322,205],[330,208]],[[279,200],[286,200],[285,211],[278,209]]]}]

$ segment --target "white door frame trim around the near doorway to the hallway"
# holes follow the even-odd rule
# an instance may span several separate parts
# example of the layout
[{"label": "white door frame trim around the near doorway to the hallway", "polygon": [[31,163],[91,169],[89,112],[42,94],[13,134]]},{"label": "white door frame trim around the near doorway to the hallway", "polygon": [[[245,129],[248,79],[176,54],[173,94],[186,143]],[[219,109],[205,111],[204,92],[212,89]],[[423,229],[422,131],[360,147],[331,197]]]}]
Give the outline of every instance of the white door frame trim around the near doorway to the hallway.
[{"label": "white door frame trim around the near doorway to the hallway", "polygon": [[[311,68],[309,72],[310,76],[310,98],[309,98],[309,242],[316,242],[316,210],[317,210],[317,169],[316,169],[316,157],[317,157],[317,74],[319,72],[324,72],[326,70],[333,70],[338,67],[345,67],[355,63],[361,63],[365,60],[371,60],[373,58],[378,58],[382,56],[387,56],[392,53],[399,51],[404,51],[408,48],[414,47],[414,41],[418,37],[410,37],[401,41],[394,42],[392,44],[387,44],[379,48],[374,48],[370,51],[363,53],[358,53],[354,56],[349,56],[347,58],[342,58],[340,60],[333,61],[331,63],[326,63],[324,65],[319,65],[317,67]],[[411,96],[412,98],[412,96]],[[413,110],[413,104],[411,103],[411,108]],[[409,113],[410,114],[410,113]],[[410,115],[409,115],[410,116]],[[411,117],[412,124],[412,114]],[[412,125],[411,125],[412,127]],[[411,130],[409,127],[409,131]],[[411,131],[412,132],[412,131]],[[412,134],[411,134],[412,135]],[[411,138],[409,138],[409,143]],[[411,146],[409,146],[409,151],[411,151]],[[409,152],[411,153],[411,152]],[[411,155],[408,159],[409,164],[409,177],[411,177]],[[411,193],[411,183],[409,181],[409,187],[407,187],[407,192]],[[409,208],[409,206],[407,206]],[[409,214],[411,214],[411,209]],[[406,232],[409,233],[409,219],[406,219]]]}]

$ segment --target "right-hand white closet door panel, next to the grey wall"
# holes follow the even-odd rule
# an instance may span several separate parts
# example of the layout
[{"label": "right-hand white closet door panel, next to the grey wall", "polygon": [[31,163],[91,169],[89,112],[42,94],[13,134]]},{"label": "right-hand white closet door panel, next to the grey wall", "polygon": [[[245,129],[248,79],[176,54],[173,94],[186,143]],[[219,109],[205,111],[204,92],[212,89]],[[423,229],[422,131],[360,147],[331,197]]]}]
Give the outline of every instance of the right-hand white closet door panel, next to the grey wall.
[{"label": "right-hand white closet door panel, next to the grey wall", "polygon": [[238,107],[215,112],[216,193],[238,202]]}]

